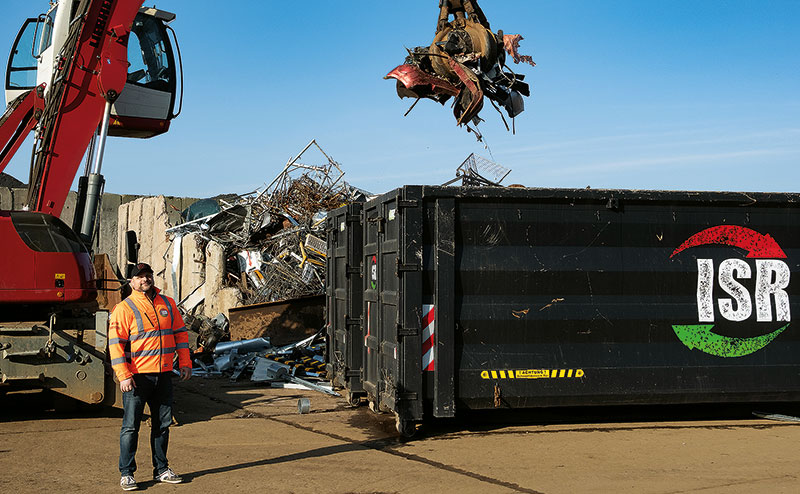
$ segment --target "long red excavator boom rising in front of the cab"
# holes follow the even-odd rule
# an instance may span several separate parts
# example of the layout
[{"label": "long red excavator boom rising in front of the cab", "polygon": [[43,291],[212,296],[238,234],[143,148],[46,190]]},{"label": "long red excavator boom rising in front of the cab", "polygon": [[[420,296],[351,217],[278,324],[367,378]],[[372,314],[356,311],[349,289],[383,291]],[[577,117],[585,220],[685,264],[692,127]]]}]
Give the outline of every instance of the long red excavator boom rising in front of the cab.
[{"label": "long red excavator boom rising in front of the cab", "polygon": [[128,36],[143,0],[81,0],[39,127],[26,204],[59,216],[92,135],[125,85]]}]

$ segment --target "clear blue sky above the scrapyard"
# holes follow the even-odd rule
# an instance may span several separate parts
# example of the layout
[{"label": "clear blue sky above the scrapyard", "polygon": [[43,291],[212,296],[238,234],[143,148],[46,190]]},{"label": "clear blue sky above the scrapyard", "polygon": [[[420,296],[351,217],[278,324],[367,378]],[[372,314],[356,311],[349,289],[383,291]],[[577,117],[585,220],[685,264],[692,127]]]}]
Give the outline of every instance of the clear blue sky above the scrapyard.
[{"label": "clear blue sky above the scrapyard", "polygon": [[[46,3],[5,0],[0,46]],[[516,135],[481,112],[488,148],[449,103],[403,117],[411,100],[383,80],[431,42],[437,0],[159,0],[178,16],[184,110],[163,136],[109,140],[106,190],[248,192],[316,139],[373,192],[443,183],[473,152],[531,187],[798,191],[800,2],[480,5],[538,64],[511,64],[533,86]],[[27,177],[29,149],[7,173]]]}]

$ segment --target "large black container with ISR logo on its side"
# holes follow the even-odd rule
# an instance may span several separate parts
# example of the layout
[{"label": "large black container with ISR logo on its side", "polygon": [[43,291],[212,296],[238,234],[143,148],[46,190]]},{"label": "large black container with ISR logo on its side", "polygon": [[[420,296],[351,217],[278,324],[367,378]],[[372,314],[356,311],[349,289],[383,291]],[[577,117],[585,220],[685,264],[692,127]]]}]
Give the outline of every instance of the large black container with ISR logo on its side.
[{"label": "large black container with ISR logo on its side", "polygon": [[364,206],[364,388],[458,409],[800,399],[800,195],[406,186]]}]

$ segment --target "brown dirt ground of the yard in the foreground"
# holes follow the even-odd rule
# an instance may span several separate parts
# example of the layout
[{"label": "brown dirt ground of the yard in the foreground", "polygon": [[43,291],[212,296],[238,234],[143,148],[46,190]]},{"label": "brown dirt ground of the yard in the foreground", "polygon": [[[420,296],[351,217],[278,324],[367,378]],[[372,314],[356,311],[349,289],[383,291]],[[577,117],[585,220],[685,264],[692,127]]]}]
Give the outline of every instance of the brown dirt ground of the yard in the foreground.
[{"label": "brown dirt ground of the yard in the foreground", "polygon": [[[300,397],[310,413],[297,412]],[[55,412],[44,398],[0,397],[0,492],[121,492],[120,412]],[[406,440],[392,416],[310,391],[195,377],[177,385],[176,400],[169,458],[186,483],[149,480],[143,425],[141,490],[798,492],[800,425],[755,418],[753,406],[479,414],[427,424]]]}]

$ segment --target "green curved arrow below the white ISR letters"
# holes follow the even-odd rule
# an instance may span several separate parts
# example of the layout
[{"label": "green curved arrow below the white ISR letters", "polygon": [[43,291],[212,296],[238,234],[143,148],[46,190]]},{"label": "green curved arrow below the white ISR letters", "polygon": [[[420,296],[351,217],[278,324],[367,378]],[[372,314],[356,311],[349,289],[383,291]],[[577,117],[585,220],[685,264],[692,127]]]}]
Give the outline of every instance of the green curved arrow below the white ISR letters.
[{"label": "green curved arrow below the white ISR letters", "polygon": [[743,357],[757,352],[769,345],[789,324],[771,333],[753,338],[732,338],[711,331],[713,324],[676,324],[672,330],[690,349],[697,348],[701,352],[717,357]]}]

